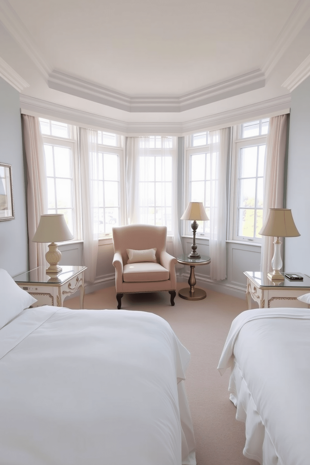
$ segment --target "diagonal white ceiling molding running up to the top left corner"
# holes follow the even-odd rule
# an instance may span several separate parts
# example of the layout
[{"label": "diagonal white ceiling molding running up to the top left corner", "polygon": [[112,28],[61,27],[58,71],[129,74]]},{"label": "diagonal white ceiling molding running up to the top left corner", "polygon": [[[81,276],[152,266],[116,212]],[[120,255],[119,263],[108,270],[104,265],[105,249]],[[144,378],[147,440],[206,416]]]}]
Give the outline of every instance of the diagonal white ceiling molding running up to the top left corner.
[{"label": "diagonal white ceiling molding running up to the top left corner", "polygon": [[45,80],[47,80],[51,68],[38,52],[29,31],[7,0],[0,0],[0,22],[11,34],[13,39],[25,50],[26,54],[39,69]]}]

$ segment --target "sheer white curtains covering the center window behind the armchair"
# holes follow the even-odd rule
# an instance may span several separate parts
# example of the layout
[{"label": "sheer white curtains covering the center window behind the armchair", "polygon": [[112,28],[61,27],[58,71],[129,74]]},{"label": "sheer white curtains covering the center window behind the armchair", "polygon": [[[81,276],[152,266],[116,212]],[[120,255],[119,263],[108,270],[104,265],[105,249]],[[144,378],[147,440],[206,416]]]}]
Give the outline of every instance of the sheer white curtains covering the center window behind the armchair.
[{"label": "sheer white curtains covering the center window behind the armchair", "polygon": [[156,221],[166,225],[172,234],[174,256],[183,253],[178,232],[177,170],[176,138],[162,137],[157,154],[150,148],[149,137],[127,138],[127,223],[155,224]]}]

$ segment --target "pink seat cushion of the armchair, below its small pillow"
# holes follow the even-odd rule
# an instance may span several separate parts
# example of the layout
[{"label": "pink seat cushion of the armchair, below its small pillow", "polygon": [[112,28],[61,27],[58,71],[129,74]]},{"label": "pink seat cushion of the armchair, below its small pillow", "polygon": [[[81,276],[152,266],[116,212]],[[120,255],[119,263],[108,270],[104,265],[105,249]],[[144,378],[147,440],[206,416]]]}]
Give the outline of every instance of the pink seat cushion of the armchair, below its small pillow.
[{"label": "pink seat cushion of the armchair, below its small pillow", "polygon": [[165,281],[169,271],[159,263],[140,262],[124,265],[123,280],[127,283]]}]

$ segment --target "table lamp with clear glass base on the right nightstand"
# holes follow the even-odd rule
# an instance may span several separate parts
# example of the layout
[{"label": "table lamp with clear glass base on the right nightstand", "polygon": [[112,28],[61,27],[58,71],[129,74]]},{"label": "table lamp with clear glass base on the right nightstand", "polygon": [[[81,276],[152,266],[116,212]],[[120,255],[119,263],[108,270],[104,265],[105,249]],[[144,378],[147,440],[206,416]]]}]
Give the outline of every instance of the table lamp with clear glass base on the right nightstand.
[{"label": "table lamp with clear glass base on the right nightstand", "polygon": [[287,208],[270,208],[262,229],[259,231],[262,236],[275,237],[274,254],[271,260],[272,272],[268,273],[271,280],[284,280],[283,274],[279,270],[282,268],[281,244],[279,237],[300,236],[295,226],[292,212]]}]

